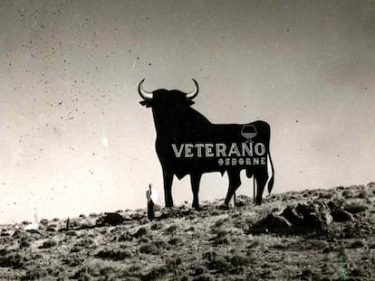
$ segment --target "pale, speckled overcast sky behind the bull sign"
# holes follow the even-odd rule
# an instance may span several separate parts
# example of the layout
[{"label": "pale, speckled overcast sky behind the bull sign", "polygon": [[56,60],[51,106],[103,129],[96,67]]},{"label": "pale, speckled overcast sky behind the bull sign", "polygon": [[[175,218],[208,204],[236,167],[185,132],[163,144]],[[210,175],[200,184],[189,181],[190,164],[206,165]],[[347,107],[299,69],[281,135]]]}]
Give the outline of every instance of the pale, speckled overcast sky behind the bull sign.
[{"label": "pale, speckled overcast sky behind the bull sign", "polygon": [[[213,123],[268,122],[274,192],[374,181],[374,54],[373,1],[2,1],[0,223],[163,197],[144,78],[194,78]],[[200,199],[226,188],[205,174]],[[191,204],[188,176],[173,195]]]}]

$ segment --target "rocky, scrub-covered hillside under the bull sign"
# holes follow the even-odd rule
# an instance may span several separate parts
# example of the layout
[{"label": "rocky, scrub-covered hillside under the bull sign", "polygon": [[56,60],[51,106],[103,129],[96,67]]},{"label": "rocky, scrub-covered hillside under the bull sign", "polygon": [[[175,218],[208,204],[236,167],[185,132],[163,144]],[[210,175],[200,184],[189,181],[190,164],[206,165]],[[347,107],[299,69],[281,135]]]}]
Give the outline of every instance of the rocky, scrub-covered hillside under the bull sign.
[{"label": "rocky, scrub-covered hillside under the bull sign", "polygon": [[[3,226],[1,280],[375,280],[375,183]],[[24,222],[27,225],[28,222]],[[67,229],[67,227],[69,229]]]}]

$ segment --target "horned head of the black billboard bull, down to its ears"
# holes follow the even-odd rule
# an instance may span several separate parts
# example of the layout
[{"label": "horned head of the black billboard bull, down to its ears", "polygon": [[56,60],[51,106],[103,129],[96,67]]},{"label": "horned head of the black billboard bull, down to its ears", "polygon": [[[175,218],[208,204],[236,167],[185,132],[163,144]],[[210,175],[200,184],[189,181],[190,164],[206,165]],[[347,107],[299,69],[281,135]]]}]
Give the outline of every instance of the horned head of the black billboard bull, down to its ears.
[{"label": "horned head of the black billboard bull, down to its ears", "polygon": [[173,90],[167,90],[167,89],[157,89],[154,91],[147,91],[143,89],[143,82],[144,80],[141,80],[138,85],[138,93],[143,100],[140,102],[142,106],[145,106],[146,108],[150,108],[155,104],[163,103],[163,101],[168,103],[168,100],[174,99],[178,100],[179,102],[187,103],[188,105],[194,104],[194,101],[192,101],[193,98],[197,97],[199,87],[197,84],[197,81],[193,79],[194,84],[196,85],[196,89],[194,89],[191,92],[184,93],[177,89]]}]

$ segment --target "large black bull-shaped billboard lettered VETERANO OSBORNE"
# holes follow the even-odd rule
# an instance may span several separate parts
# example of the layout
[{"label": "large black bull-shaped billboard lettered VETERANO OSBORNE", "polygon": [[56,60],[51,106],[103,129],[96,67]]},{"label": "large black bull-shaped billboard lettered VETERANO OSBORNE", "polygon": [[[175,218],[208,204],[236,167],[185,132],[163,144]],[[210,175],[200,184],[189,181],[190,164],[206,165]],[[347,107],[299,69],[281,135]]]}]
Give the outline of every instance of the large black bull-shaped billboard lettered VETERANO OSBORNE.
[{"label": "large black bull-shaped billboard lettered VETERANO OSBORNE", "polygon": [[[270,126],[264,121],[246,125],[212,124],[206,117],[190,106],[197,96],[198,85],[190,93],[179,90],[157,89],[146,91],[143,81],[139,82],[141,105],[152,108],[157,131],[156,151],[163,171],[166,207],[173,207],[172,181],[176,175],[182,179],[190,175],[193,191],[193,208],[199,209],[198,191],[202,173],[226,172],[229,188],[225,204],[241,185],[240,172],[254,176],[256,204],[261,204],[264,187],[268,181],[268,192],[274,185],[274,166],[269,152]],[[253,125],[256,136],[252,143],[245,143],[241,134],[244,126]],[[258,157],[259,156],[259,157]],[[257,158],[257,159],[256,159]],[[268,165],[272,175],[268,176]],[[255,191],[255,188],[254,188]],[[255,197],[255,196],[254,196]]]}]

